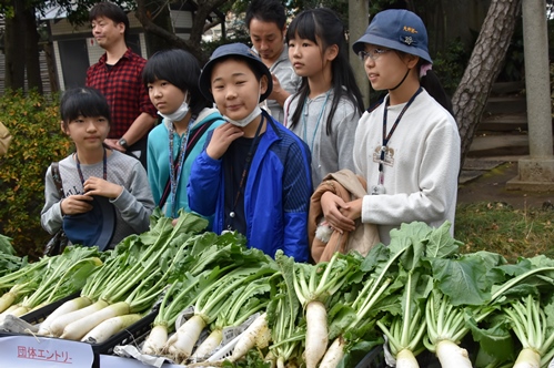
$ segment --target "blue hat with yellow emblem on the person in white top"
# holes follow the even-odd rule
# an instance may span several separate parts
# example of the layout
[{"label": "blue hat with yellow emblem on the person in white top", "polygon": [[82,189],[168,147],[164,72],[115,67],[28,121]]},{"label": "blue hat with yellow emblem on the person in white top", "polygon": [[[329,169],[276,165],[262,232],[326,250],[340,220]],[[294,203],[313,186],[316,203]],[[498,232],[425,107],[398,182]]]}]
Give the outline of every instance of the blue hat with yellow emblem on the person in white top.
[{"label": "blue hat with yellow emblem on the person in white top", "polygon": [[429,55],[427,30],[421,18],[409,10],[390,9],[376,13],[352,49],[357,54],[365,43],[399,50],[433,63]]}]

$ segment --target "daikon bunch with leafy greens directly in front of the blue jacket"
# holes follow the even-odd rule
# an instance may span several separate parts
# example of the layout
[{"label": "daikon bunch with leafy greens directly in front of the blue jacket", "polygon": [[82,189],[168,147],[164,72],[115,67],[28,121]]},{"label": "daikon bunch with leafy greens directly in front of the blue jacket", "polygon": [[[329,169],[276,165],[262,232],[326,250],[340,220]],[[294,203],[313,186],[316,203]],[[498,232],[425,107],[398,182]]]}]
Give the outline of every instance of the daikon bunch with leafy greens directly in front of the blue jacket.
[{"label": "daikon bunch with leafy greens directly in front of the blue jacket", "polygon": [[[226,233],[205,233],[190,247],[187,272],[163,296],[142,352],[178,362],[198,362],[222,345],[223,333],[236,328],[269,303],[268,278],[274,262],[263,252],[244,247],[244,238]],[[190,307],[188,320],[171,337],[178,315]],[[199,344],[200,334],[210,334]]]}]

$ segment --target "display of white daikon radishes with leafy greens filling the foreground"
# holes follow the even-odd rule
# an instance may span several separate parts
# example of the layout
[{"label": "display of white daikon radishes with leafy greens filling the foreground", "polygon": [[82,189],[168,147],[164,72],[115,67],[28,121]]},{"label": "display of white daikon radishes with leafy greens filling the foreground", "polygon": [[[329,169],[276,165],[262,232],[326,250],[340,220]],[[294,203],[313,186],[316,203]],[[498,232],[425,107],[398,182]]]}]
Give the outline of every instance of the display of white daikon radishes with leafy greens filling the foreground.
[{"label": "display of white daikon radishes with leafy greens filling the foreground", "polygon": [[114,249],[37,262],[0,236],[2,367],[554,367],[554,260],[403,224],[296,263],[159,211]]}]

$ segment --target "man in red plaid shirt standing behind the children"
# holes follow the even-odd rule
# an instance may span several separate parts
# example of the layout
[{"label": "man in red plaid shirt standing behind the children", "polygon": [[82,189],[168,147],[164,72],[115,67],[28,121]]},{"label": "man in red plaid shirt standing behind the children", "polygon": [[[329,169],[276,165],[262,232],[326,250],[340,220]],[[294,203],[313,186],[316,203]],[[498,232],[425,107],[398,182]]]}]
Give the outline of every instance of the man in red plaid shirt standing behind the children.
[{"label": "man in red plaid shirt standing behind the children", "polygon": [[89,12],[92,35],[105,50],[87,70],[87,85],[98,89],[111,108],[111,129],[104,143],[137,156],[147,167],[148,133],[157,121],[155,106],[142,83],[147,60],[125,43],[129,18],[117,4],[100,2]]}]

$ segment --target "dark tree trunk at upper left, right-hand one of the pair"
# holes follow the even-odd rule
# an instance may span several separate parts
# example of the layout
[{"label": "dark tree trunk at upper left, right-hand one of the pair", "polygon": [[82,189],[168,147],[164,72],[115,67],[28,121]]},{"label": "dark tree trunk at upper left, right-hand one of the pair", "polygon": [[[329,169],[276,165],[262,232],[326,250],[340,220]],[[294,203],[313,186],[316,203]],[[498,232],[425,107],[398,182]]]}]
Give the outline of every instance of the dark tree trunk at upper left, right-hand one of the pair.
[{"label": "dark tree trunk at upper left, right-hand one of the pair", "polygon": [[37,31],[37,17],[34,16],[34,8],[28,8],[23,11],[23,25],[24,28],[24,58],[27,69],[27,86],[28,89],[37,89],[42,93],[42,78],[40,75],[40,60],[39,60],[39,40],[40,35]]}]

